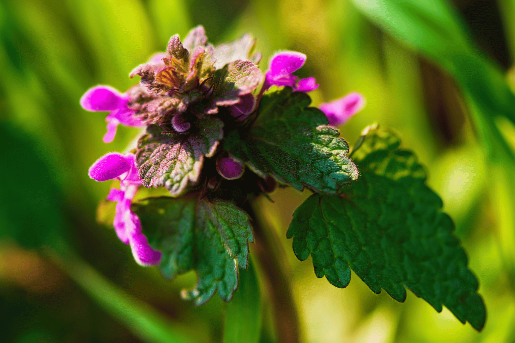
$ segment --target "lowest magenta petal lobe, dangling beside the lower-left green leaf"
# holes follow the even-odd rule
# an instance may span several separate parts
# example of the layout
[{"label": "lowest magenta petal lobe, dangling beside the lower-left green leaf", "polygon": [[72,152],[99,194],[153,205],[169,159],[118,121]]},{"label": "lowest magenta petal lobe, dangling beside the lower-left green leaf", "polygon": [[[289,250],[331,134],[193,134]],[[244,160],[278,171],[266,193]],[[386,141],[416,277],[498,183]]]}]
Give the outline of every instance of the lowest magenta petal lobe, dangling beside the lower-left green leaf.
[{"label": "lowest magenta petal lobe, dangling beside the lower-left green leaf", "polygon": [[162,256],[161,251],[152,249],[148,244],[147,238],[141,233],[141,222],[138,216],[129,211],[125,217],[129,243],[136,262],[143,266],[159,264]]}]

